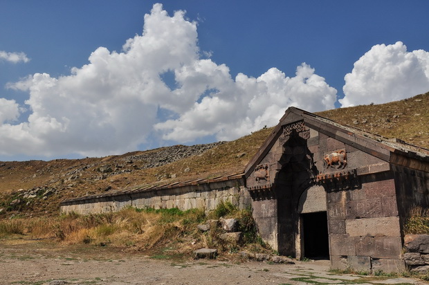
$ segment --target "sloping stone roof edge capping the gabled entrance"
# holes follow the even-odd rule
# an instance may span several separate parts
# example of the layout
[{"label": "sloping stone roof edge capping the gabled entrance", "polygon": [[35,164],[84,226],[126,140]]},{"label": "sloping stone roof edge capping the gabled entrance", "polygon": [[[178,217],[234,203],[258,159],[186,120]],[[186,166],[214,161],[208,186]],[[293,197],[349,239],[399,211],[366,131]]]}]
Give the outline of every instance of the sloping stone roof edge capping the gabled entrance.
[{"label": "sloping stone roof edge capping the gabled entrance", "polygon": [[[254,167],[268,153],[277,138],[282,134],[282,122],[286,120],[286,118],[289,119],[290,116],[292,116],[291,121],[296,122],[298,120],[304,120],[306,125],[310,125],[310,127],[322,132],[322,134],[336,138],[343,143],[348,143],[357,149],[366,151],[367,153],[377,156],[378,158],[381,158],[387,162],[395,163],[394,161],[390,161],[390,153],[394,153],[417,160],[423,160],[429,163],[429,149],[411,145],[396,138],[388,139],[383,136],[363,131],[362,129],[358,129],[356,127],[340,125],[334,120],[315,115],[296,107],[289,107],[286,109],[284,115],[279,120],[277,126],[275,126],[271,135],[268,136],[255,156],[253,156],[253,158],[246,165],[244,169],[244,176],[246,178],[250,175],[252,169],[254,169]],[[296,120],[294,120],[294,118]],[[322,128],[322,125],[325,128]],[[358,140],[358,142],[356,142],[356,140]],[[374,149],[379,149],[380,151],[369,148],[371,145],[374,145]]]}]

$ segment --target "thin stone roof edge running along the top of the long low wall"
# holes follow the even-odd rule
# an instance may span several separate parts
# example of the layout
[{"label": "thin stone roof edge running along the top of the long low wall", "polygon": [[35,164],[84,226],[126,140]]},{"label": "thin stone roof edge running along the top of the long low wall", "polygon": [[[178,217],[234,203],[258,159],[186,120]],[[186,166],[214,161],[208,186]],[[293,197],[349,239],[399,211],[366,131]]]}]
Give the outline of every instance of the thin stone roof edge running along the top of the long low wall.
[{"label": "thin stone roof edge running along the top of the long low wall", "polygon": [[205,179],[192,179],[190,181],[183,181],[183,182],[174,182],[174,183],[167,183],[162,185],[147,185],[145,187],[137,187],[134,189],[129,190],[120,190],[117,192],[111,192],[106,194],[94,194],[89,196],[82,196],[78,198],[73,199],[67,199],[60,203],[60,205],[66,205],[67,203],[71,202],[77,202],[77,201],[84,201],[89,199],[100,199],[104,197],[114,197],[114,196],[122,196],[122,195],[129,195],[129,194],[136,194],[140,192],[149,192],[149,191],[158,191],[158,190],[167,190],[167,189],[174,189],[179,187],[186,187],[186,186],[195,186],[195,185],[203,185],[207,183],[216,183],[221,181],[232,181],[237,179],[242,179],[244,177],[244,173],[238,173],[238,174],[230,174],[226,176],[217,176],[214,178],[205,178]]}]

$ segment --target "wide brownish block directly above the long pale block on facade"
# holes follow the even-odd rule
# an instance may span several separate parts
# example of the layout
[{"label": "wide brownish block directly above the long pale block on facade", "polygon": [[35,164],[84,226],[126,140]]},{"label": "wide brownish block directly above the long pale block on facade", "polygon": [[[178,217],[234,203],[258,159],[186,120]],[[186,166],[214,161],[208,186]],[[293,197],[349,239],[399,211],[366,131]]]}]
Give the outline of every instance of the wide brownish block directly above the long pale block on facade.
[{"label": "wide brownish block directly above the long pale block on facade", "polygon": [[381,199],[347,201],[347,219],[383,217]]}]

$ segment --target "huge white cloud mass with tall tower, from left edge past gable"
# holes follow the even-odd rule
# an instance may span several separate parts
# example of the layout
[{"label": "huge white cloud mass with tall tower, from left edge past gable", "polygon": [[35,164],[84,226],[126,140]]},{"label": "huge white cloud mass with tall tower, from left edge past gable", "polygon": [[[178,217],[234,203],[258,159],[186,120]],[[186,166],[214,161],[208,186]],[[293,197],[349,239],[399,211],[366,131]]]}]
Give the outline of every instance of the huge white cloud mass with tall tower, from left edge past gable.
[{"label": "huge white cloud mass with tall tower, from left edge past gable", "polygon": [[[154,134],[179,143],[204,136],[228,140],[275,125],[289,106],[334,107],[336,89],[307,64],[293,77],[271,68],[257,78],[232,78],[228,66],[206,55],[197,23],[183,11],[170,17],[155,4],[142,35],[120,52],[100,47],[70,75],[35,73],[8,84],[28,92],[30,115],[14,125],[24,107],[0,100],[0,154],[118,154]],[[165,73],[174,75],[174,87],[163,81]]]}]

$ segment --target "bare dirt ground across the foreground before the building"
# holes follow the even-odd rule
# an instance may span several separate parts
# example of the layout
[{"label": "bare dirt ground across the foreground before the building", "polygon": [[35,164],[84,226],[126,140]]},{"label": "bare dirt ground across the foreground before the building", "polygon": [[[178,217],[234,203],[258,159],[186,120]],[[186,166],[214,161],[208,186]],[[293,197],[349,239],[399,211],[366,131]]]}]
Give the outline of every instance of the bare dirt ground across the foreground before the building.
[{"label": "bare dirt ground across the foreground before the building", "polygon": [[109,247],[0,240],[0,284],[427,284],[403,277],[335,275],[329,261],[257,261],[145,256]]}]

